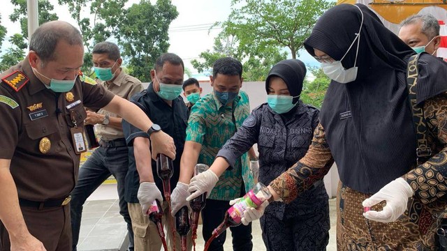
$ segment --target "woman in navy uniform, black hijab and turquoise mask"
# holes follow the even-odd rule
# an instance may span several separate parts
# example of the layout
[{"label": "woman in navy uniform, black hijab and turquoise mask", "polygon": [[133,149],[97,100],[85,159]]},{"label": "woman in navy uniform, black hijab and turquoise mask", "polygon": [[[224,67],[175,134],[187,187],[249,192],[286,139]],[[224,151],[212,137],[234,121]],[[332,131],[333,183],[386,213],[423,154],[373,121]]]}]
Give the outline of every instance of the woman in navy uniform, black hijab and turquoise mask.
[{"label": "woman in navy uniform, black hijab and turquoise mask", "polygon": [[[259,181],[268,184],[305,155],[318,125],[318,109],[303,104],[299,98],[305,75],[306,67],[298,59],[279,61],[272,67],[265,80],[267,102],[253,109],[237,128],[217,153],[209,172],[220,176],[258,144]],[[199,176],[195,179],[205,183]],[[200,191],[193,180],[190,189]],[[261,228],[268,251],[325,250],[330,220],[323,181],[314,183],[290,204],[272,202],[261,218]]]}]

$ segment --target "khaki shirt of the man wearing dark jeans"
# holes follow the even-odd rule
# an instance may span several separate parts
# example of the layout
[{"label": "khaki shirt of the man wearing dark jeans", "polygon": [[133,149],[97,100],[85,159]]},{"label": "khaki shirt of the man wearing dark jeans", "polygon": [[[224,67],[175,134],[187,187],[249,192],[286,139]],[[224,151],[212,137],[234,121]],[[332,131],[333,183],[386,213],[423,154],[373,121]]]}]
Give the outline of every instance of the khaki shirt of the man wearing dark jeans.
[{"label": "khaki shirt of the man wearing dark jeans", "polygon": [[[104,81],[101,82],[101,85],[104,86],[105,89],[108,89],[108,91],[111,91],[115,95],[125,98],[126,100],[130,100],[134,94],[140,93],[144,90],[141,81],[129,74],[124,73],[124,70],[121,70],[121,73],[119,73],[117,78],[115,78],[115,80],[113,80],[110,84]],[[118,117],[117,114],[108,112],[105,109],[100,109],[98,114],[108,114],[109,117]],[[98,124],[95,126],[95,129],[96,135],[105,141],[124,138],[123,131],[112,126],[103,126]]]}]

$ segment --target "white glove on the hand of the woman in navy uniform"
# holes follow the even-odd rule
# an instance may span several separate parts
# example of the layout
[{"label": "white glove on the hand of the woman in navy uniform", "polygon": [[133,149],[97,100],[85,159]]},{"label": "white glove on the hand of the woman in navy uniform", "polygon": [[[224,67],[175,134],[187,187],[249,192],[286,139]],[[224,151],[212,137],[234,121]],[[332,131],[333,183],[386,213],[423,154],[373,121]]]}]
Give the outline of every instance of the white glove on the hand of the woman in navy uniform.
[{"label": "white glove on the hand of the woman in navy uniform", "polygon": [[203,193],[207,192],[207,197],[210,196],[212,188],[216,185],[217,181],[219,181],[219,177],[217,177],[214,172],[210,169],[206,170],[203,173],[197,174],[191,178],[191,182],[189,183],[188,192],[192,192],[189,197],[186,198],[187,201],[198,197],[199,195],[203,195]]}]

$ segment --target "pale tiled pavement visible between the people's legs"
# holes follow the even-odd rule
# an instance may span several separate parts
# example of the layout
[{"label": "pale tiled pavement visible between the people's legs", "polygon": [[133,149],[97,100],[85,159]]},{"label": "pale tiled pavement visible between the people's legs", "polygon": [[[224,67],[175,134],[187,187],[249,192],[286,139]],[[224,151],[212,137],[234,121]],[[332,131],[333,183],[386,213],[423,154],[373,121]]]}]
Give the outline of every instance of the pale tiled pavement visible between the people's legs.
[{"label": "pale tiled pavement visible between the people's legs", "polygon": [[[100,188],[87,200],[82,213],[80,240],[78,250],[120,250],[127,247],[126,224],[119,215],[119,206],[115,185],[101,185]],[[330,199],[330,239],[327,251],[335,251],[335,199]],[[203,250],[204,241],[201,236],[201,225],[198,227],[196,250]],[[259,221],[253,224],[253,243],[255,251],[265,250],[261,237]],[[227,234],[224,244],[225,250],[231,250],[231,235]]]}]

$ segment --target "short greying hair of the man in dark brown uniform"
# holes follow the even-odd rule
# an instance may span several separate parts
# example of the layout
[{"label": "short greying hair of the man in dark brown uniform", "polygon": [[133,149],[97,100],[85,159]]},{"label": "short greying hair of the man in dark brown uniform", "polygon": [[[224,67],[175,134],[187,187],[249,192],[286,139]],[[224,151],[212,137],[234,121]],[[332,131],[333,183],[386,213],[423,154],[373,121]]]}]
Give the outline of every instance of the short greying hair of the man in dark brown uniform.
[{"label": "short greying hair of the man in dark brown uniform", "polygon": [[83,46],[82,36],[75,26],[64,21],[46,22],[34,31],[29,50],[38,54],[43,62],[54,60],[57,43],[64,40],[69,45]]}]

